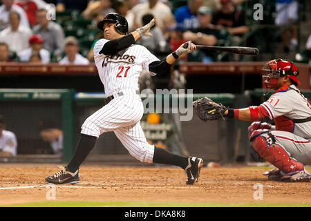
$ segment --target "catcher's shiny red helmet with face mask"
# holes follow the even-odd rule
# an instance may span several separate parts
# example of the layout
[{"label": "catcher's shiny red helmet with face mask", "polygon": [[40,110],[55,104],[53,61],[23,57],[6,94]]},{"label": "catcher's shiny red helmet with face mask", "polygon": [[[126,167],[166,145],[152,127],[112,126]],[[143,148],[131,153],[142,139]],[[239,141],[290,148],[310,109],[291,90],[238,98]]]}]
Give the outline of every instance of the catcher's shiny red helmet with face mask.
[{"label": "catcher's shiny red helmet with face mask", "polygon": [[284,75],[289,75],[292,81],[296,84],[300,84],[300,81],[297,79],[299,75],[298,68],[292,61],[281,58],[268,61],[265,66],[263,66],[263,83],[265,88],[274,89],[276,86],[276,79]]}]

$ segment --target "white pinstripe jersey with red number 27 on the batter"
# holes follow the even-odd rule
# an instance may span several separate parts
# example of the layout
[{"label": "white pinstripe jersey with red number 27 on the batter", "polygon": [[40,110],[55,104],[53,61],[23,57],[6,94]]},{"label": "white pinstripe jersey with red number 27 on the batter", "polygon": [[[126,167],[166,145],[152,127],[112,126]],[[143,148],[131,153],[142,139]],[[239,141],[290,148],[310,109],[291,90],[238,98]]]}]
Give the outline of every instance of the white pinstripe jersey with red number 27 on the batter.
[{"label": "white pinstripe jersey with red number 27 on the batter", "polygon": [[[117,55],[99,54],[107,39],[100,39],[94,46],[94,60],[106,95],[122,90],[139,90],[138,78],[142,70],[149,71],[149,64],[159,59],[144,46],[131,45]],[[151,73],[151,75],[156,75]]]}]

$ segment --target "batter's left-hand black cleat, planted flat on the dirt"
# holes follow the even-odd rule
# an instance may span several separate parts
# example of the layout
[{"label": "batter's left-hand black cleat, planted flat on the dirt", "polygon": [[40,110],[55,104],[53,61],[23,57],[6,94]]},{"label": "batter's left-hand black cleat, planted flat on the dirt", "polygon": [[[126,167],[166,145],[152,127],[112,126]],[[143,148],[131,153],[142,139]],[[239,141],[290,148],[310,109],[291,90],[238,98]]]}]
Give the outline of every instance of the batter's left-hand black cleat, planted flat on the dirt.
[{"label": "batter's left-hand black cleat, planted flat on the dirt", "polygon": [[75,173],[71,173],[67,171],[67,166],[65,168],[63,166],[59,167],[62,168],[62,171],[46,177],[46,182],[51,184],[77,184],[80,182],[79,170],[75,171]]}]

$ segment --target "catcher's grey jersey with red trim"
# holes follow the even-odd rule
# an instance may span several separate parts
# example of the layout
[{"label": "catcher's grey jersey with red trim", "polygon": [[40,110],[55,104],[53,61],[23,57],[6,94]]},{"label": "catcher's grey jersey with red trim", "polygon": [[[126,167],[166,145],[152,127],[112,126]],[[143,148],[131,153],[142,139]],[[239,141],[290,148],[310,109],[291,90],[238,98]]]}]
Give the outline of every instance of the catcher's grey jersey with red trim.
[{"label": "catcher's grey jersey with red trim", "polygon": [[[294,84],[289,87],[297,90]],[[276,91],[267,102],[261,104],[269,114],[270,119],[280,116],[290,119],[311,117],[311,105],[295,90],[285,88],[285,90]],[[311,121],[294,124],[291,132],[311,141]]]}]

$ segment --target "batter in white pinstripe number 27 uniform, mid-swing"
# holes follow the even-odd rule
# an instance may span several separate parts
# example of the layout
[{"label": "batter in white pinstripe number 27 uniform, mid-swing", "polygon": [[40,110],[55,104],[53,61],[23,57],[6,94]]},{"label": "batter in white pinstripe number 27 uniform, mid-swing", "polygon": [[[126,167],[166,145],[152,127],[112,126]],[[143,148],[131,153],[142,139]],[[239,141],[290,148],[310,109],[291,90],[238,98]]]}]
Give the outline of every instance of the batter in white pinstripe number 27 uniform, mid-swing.
[{"label": "batter in white pinstripe number 27 uniform, mid-swing", "polygon": [[81,137],[73,159],[46,182],[54,184],[79,182],[79,166],[104,132],[113,131],[133,157],[141,162],[180,166],[187,173],[187,184],[198,181],[203,161],[197,157],[184,157],[150,145],[140,126],[144,108],[140,99],[138,78],[142,70],[151,75],[169,73],[171,65],[180,56],[196,49],[189,41],[188,48],[180,46],[162,60],[144,46],[135,45],[142,36],[152,37],[149,32],[153,19],[146,26],[128,34],[128,23],[119,14],[109,13],[97,25],[104,32],[94,46],[94,60],[105,93],[106,105],[88,117],[82,125]]}]

